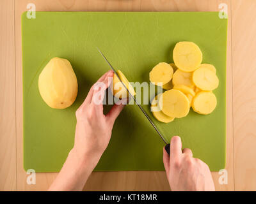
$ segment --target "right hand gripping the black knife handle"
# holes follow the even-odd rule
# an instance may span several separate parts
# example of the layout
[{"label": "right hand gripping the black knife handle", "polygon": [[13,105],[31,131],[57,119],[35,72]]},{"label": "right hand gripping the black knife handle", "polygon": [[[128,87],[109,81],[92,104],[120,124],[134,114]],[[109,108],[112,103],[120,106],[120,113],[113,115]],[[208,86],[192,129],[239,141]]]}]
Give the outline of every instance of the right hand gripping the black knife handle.
[{"label": "right hand gripping the black knife handle", "polygon": [[215,191],[207,164],[193,158],[190,149],[181,149],[179,136],[172,137],[170,157],[163,149],[164,168],[172,191]]}]

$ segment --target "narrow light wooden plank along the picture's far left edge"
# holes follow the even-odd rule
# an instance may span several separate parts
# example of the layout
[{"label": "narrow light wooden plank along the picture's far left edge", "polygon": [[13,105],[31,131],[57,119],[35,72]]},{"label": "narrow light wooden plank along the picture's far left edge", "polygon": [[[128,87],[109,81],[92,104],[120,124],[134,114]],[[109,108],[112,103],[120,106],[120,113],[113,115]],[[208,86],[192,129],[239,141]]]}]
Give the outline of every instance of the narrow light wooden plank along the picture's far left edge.
[{"label": "narrow light wooden plank along the picture's far left edge", "polygon": [[0,1],[0,191],[16,190],[14,0]]}]

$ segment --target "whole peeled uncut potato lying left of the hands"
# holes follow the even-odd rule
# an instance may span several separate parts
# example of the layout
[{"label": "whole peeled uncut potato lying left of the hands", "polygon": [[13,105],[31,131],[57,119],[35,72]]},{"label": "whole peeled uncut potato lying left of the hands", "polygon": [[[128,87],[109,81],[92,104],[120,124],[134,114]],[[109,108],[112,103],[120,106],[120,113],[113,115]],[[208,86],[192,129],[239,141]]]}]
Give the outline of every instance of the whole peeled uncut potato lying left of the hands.
[{"label": "whole peeled uncut potato lying left of the hands", "polygon": [[72,105],[77,96],[77,78],[67,59],[54,57],[38,78],[42,99],[51,108],[63,109]]}]

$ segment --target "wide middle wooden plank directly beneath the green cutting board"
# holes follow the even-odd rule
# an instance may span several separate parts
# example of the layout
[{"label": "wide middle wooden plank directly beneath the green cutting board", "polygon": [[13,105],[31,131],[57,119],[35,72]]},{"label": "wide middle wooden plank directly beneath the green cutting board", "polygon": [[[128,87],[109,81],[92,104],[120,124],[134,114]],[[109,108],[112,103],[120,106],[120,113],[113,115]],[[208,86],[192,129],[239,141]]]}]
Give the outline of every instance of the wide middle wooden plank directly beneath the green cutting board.
[{"label": "wide middle wooden plank directly beneath the green cutting board", "polygon": [[[26,184],[22,153],[22,53],[20,15],[28,3],[35,3],[37,11],[218,11],[220,3],[227,3],[230,19],[230,1],[115,1],[115,0],[19,0],[15,1],[15,54],[16,54],[16,106],[17,106],[17,189],[20,191],[44,191],[51,185],[57,173],[36,173],[36,185]],[[227,48],[227,165],[228,184],[220,185],[218,172],[213,172],[217,191],[234,190],[233,133],[232,133],[232,67],[230,24]],[[116,171],[92,173],[86,191],[169,191],[164,171]]]}]

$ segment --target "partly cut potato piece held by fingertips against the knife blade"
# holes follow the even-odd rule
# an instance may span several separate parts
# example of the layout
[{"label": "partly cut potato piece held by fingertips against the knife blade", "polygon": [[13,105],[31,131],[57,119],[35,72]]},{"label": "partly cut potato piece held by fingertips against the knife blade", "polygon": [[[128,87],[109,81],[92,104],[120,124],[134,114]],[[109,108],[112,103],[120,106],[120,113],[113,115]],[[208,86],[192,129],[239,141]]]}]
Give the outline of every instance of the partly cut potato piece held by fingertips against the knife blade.
[{"label": "partly cut potato piece held by fingertips against the knife blade", "polygon": [[[132,96],[135,96],[136,92],[134,91],[132,85],[129,83],[125,75],[122,73],[122,71],[118,70],[116,71],[118,74],[118,77],[122,80],[124,83],[125,87],[131,92]],[[129,98],[129,92],[127,92],[127,89],[124,87],[122,82],[120,82],[119,78],[114,75],[113,77],[113,96],[116,98],[124,99],[124,98]]]}]

